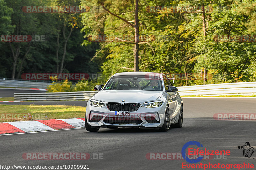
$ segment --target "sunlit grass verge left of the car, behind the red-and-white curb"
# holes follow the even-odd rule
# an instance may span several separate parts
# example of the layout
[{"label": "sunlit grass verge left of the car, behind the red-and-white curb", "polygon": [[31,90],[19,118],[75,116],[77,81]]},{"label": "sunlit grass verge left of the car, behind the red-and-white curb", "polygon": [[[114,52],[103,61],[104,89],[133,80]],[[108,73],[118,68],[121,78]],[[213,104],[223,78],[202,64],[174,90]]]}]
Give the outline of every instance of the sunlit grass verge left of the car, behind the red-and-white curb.
[{"label": "sunlit grass verge left of the car, behind the red-and-white curb", "polygon": [[0,105],[0,122],[84,118],[86,107],[64,105]]}]

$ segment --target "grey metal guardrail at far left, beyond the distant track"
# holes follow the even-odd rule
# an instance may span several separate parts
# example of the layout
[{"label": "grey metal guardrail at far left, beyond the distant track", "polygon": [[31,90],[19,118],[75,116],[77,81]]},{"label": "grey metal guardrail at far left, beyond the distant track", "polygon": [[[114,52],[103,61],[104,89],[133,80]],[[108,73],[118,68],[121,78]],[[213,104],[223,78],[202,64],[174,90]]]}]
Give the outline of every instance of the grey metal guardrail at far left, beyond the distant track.
[{"label": "grey metal guardrail at far left, beyond the distant track", "polygon": [[28,87],[46,89],[47,85],[51,85],[51,83],[0,79],[1,87]]}]

